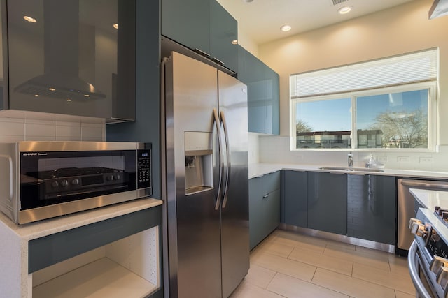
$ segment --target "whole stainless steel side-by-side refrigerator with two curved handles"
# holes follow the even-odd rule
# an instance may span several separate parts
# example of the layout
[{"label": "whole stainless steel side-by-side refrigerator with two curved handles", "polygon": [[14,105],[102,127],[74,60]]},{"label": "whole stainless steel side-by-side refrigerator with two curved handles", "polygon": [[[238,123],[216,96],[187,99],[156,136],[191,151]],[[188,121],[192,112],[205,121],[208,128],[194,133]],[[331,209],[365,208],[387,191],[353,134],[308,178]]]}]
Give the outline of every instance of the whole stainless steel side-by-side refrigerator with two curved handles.
[{"label": "whole stainless steel side-by-side refrigerator with two curved handles", "polygon": [[247,87],[172,52],[162,119],[169,296],[228,297],[249,267]]}]

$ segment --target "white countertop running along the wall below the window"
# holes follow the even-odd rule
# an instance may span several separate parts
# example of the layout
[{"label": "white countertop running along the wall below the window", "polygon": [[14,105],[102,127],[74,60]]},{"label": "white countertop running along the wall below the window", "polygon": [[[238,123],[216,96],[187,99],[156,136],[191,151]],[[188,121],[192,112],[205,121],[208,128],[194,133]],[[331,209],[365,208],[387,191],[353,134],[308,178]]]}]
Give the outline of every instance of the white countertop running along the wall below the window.
[{"label": "white countertop running along the wall below the window", "polygon": [[421,170],[394,170],[384,168],[384,172],[346,172],[340,170],[321,170],[320,167],[344,167],[344,165],[295,165],[282,163],[251,163],[248,165],[249,179],[260,177],[265,174],[277,172],[279,170],[294,170],[302,172],[332,172],[339,174],[372,174],[381,176],[398,176],[398,177],[412,177],[412,178],[428,178],[428,179],[448,179],[448,172],[430,172]]}]

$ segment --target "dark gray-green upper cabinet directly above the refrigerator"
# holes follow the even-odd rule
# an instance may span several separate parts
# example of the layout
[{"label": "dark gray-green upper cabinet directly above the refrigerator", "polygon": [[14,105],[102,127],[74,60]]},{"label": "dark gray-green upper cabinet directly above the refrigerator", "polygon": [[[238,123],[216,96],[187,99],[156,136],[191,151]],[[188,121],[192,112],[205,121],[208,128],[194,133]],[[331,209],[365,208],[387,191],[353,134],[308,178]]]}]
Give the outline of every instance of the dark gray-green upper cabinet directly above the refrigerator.
[{"label": "dark gray-green upper cabinet directly above the refrigerator", "polygon": [[238,23],[216,0],[163,0],[162,35],[237,70]]}]

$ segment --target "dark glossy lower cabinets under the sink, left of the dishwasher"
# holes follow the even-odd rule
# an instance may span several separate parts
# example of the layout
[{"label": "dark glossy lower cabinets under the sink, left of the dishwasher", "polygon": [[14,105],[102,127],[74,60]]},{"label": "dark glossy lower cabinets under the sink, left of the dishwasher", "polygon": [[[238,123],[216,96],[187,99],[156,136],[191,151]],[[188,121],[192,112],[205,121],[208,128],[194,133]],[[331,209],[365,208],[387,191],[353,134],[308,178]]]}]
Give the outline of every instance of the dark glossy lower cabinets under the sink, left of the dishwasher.
[{"label": "dark glossy lower cabinets under the sink, left of the dishwasher", "polygon": [[281,222],[395,244],[396,179],[283,170]]}]

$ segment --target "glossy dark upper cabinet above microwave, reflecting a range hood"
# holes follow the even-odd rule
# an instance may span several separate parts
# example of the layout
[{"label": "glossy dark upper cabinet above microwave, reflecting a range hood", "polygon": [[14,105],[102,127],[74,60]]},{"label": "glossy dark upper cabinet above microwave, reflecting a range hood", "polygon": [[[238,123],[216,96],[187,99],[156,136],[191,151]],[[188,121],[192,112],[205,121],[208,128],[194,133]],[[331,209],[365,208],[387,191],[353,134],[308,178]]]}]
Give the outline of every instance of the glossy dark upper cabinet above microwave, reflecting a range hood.
[{"label": "glossy dark upper cabinet above microwave, reflecting a range hood", "polygon": [[134,119],[135,0],[15,0],[6,12],[3,109]]}]

